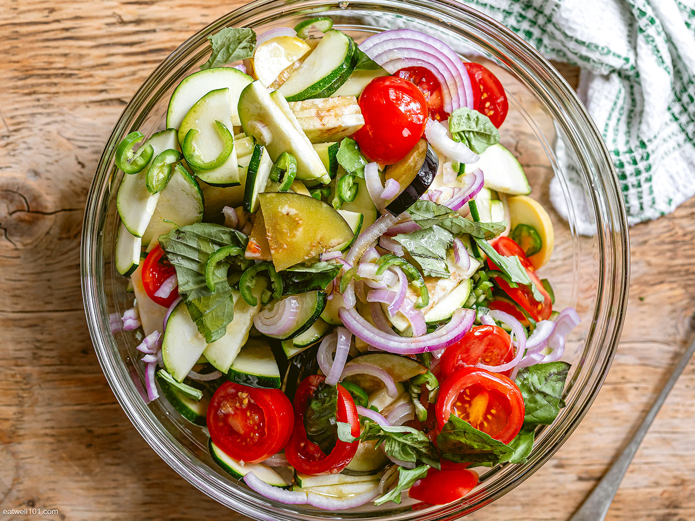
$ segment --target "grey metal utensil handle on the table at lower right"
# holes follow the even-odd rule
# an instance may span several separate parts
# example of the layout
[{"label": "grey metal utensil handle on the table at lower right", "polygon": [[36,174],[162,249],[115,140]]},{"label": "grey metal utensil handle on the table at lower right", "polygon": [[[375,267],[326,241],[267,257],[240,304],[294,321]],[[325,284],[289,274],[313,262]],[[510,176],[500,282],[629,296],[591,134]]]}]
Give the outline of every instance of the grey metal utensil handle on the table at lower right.
[{"label": "grey metal utensil handle on the table at lower right", "polygon": [[644,435],[649,430],[649,427],[654,421],[659,409],[666,401],[666,398],[669,395],[669,392],[671,392],[676,380],[678,380],[678,377],[680,377],[680,374],[688,364],[693,352],[695,352],[695,340],[693,340],[690,347],[688,347],[686,352],[680,358],[680,361],[678,361],[676,367],[673,368],[671,377],[669,377],[669,380],[664,384],[659,396],[657,396],[653,405],[651,406],[651,409],[649,409],[649,412],[644,417],[644,420],[642,420],[639,429],[637,429],[635,434],[632,435],[628,445],[626,445],[616,461],[613,462],[610,469],[608,469],[608,472],[605,473],[601,481],[598,482],[596,488],[591,491],[591,494],[587,496],[587,499],[584,499],[582,506],[580,506],[569,521],[603,521],[608,513],[608,508],[610,508],[610,505],[613,502],[613,497],[615,497],[615,494],[618,491],[620,482],[623,480],[623,476],[625,476],[625,473],[628,471],[632,458],[635,457],[635,452],[637,452],[639,444],[644,439]]}]

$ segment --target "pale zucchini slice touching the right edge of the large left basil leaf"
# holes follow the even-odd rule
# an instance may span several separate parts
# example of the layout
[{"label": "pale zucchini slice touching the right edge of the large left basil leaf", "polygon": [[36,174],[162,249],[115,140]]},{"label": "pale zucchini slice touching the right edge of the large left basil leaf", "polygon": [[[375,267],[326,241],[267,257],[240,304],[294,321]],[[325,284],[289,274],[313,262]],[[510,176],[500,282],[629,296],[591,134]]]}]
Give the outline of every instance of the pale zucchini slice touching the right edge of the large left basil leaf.
[{"label": "pale zucchini slice touching the right edge of the large left basil leaf", "polygon": [[254,315],[261,309],[260,297],[264,289],[263,284],[258,284],[252,291],[259,301],[257,306],[250,306],[247,304],[247,301],[241,298],[240,292],[232,290],[234,320],[227,325],[227,333],[220,340],[215,340],[215,342],[208,344],[203,351],[205,358],[208,359],[208,362],[215,369],[223,373],[229,372],[229,367],[234,363],[241,347],[246,344],[249,338],[249,331],[251,331],[251,326],[254,325]]}]

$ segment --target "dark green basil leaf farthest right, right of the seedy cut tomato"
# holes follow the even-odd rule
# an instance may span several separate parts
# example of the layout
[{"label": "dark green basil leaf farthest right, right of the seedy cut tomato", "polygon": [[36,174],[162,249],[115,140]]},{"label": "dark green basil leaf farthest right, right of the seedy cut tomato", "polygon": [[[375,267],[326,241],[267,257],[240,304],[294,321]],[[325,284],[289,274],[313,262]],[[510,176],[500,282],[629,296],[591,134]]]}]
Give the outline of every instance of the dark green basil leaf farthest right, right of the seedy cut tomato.
[{"label": "dark green basil leaf farthest right, right of the seedy cut tomato", "polygon": [[516,374],[521,390],[527,424],[553,423],[565,406],[562,390],[571,366],[566,362],[549,362],[522,367]]}]

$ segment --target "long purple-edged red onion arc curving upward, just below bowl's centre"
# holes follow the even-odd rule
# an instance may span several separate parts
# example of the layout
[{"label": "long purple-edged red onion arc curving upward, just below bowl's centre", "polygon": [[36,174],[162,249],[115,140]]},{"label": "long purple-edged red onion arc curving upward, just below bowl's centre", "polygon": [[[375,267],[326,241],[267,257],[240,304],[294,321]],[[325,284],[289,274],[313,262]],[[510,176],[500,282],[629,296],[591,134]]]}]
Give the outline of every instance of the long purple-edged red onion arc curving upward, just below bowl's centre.
[{"label": "long purple-edged red onion arc curving upward, just below bowl's centre", "polygon": [[465,308],[457,309],[448,324],[441,326],[433,333],[415,338],[384,333],[364,320],[355,309],[339,308],[338,316],[354,336],[368,345],[389,353],[420,354],[449,347],[461,340],[473,325],[475,311]]}]

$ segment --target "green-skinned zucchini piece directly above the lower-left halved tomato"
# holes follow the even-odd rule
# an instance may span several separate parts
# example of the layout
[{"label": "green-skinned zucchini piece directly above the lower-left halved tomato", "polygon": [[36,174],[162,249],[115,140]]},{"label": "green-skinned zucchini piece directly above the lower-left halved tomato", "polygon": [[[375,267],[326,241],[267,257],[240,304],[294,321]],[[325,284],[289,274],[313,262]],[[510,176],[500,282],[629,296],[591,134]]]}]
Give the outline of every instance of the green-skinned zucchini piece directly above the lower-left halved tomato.
[{"label": "green-skinned zucchini piece directly above the lower-left halved tomato", "polygon": [[279,389],[280,371],[268,342],[249,340],[229,367],[227,377],[245,386]]}]

